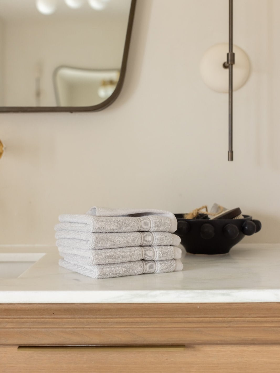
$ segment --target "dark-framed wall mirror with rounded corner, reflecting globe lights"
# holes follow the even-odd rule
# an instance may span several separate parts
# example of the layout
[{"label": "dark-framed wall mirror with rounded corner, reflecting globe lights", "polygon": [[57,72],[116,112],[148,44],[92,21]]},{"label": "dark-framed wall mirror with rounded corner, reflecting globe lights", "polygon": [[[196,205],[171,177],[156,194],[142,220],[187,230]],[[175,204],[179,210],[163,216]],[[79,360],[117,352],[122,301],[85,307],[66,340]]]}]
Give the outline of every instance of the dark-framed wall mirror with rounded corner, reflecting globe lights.
[{"label": "dark-framed wall mirror with rounded corner, reflecting globe lights", "polygon": [[0,112],[97,111],[124,81],[136,0],[1,0]]}]

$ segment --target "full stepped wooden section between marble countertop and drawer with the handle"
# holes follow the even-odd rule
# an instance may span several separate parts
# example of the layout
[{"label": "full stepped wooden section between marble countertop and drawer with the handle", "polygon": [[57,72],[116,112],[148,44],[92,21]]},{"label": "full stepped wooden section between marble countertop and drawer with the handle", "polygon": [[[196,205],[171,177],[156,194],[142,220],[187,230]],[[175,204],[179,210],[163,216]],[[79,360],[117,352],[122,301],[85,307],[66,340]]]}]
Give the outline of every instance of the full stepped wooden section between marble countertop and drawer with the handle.
[{"label": "full stepped wooden section between marble countertop and drawer with the handle", "polygon": [[277,343],[278,303],[0,305],[1,345]]}]

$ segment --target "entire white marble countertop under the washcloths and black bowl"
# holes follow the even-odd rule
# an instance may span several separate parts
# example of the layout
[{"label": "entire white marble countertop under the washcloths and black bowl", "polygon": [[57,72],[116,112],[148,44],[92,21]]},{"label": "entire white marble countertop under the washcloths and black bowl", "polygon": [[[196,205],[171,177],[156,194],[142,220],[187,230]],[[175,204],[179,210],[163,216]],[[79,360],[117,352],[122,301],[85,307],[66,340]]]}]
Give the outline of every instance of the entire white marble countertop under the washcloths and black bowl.
[{"label": "entire white marble countertop under the washcloths and black bowl", "polygon": [[58,259],[56,247],[0,245],[2,265],[37,260],[18,278],[1,278],[0,272],[0,303],[280,301],[280,244],[240,244],[218,256],[196,256],[183,249],[182,272],[112,279],[71,272],[59,267]]}]

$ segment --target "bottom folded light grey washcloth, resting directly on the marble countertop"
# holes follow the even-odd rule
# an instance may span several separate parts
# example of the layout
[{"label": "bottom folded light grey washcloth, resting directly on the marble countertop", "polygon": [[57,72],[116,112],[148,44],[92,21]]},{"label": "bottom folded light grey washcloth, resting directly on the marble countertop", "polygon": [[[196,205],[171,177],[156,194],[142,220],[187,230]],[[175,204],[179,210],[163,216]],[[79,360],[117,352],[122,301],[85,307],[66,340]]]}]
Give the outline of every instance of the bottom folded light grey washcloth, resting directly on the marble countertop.
[{"label": "bottom folded light grey washcloth, resting directly on the marble countertop", "polygon": [[85,264],[79,265],[60,259],[59,265],[94,279],[133,276],[141,275],[142,273],[165,273],[181,271],[183,269],[183,264],[179,259],[159,261],[137,260],[125,263],[97,264],[93,266],[87,266]]}]

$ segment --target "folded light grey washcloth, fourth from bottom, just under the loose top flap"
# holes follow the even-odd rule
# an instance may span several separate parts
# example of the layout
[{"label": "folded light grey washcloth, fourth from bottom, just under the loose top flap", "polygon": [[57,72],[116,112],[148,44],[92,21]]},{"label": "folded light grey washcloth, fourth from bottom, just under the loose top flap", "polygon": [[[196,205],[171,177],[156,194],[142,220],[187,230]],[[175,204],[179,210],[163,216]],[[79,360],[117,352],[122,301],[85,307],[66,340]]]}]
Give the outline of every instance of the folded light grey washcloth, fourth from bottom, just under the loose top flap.
[{"label": "folded light grey washcloth, fourth from bottom, just under the loose top flap", "polygon": [[92,216],[87,214],[63,214],[58,217],[59,224],[55,230],[68,230],[93,233],[117,232],[170,232],[176,231],[177,225],[167,216]]}]

